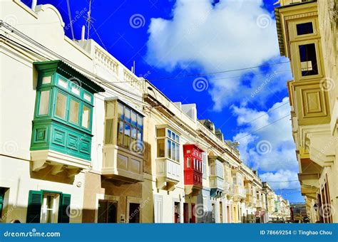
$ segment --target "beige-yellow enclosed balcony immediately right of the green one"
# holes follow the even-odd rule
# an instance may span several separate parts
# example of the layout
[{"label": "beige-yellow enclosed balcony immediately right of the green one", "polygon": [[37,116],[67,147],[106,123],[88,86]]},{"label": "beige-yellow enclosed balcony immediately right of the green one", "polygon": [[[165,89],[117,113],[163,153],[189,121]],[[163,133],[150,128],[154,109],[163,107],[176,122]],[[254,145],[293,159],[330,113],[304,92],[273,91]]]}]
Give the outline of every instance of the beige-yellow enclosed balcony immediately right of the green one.
[{"label": "beige-yellow enclosed balcony immediately right of the green one", "polygon": [[101,174],[108,179],[143,181],[143,115],[121,100],[106,99]]}]

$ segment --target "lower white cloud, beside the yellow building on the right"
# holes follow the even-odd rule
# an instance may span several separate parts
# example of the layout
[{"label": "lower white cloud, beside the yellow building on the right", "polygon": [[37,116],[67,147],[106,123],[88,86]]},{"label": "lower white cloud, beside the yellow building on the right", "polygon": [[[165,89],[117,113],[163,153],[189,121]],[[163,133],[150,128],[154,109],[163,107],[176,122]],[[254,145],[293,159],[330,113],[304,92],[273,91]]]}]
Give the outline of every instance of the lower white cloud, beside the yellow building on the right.
[{"label": "lower white cloud, beside the yellow building on the right", "polygon": [[288,102],[288,98],[284,98],[267,112],[232,106],[237,125],[242,127],[233,140],[240,142],[241,157],[253,169],[265,172],[279,169],[297,171]]}]

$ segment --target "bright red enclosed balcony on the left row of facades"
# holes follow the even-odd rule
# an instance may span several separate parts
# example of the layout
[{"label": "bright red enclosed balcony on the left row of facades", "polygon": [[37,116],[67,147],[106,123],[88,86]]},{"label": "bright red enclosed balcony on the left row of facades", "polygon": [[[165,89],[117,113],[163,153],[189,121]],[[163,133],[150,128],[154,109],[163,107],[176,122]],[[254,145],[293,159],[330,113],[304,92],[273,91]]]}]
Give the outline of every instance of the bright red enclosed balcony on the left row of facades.
[{"label": "bright red enclosed balcony on the left row of facades", "polygon": [[195,144],[184,144],[185,194],[196,196],[202,189],[202,153]]}]

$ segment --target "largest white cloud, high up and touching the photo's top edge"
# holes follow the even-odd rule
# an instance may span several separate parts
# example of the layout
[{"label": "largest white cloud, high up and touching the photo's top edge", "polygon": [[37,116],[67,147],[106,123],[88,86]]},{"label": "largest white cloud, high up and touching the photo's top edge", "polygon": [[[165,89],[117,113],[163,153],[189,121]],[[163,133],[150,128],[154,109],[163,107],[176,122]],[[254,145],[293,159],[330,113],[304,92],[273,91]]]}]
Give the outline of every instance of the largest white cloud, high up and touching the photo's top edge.
[{"label": "largest white cloud, high up and touching the photo's top edge", "polygon": [[[272,15],[262,7],[262,0],[221,0],[215,6],[211,0],[178,0],[172,19],[151,19],[148,61],[167,70],[198,67],[208,73],[280,63]],[[262,100],[285,90],[285,73],[278,72],[289,68],[274,65],[267,72],[251,69],[209,77],[215,110],[250,99],[269,79],[260,98],[249,100],[264,104]],[[233,76],[241,78],[229,78]]]}]

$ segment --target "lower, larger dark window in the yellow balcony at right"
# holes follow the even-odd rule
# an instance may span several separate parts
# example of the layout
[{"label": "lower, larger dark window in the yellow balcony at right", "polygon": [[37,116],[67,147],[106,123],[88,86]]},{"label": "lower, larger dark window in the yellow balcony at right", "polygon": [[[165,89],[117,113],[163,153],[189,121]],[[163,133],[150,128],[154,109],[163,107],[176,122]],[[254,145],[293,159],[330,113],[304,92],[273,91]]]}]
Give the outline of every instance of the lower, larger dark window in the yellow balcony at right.
[{"label": "lower, larger dark window in the yellow balcony at right", "polygon": [[302,76],[317,75],[317,56],[316,47],[314,43],[299,46],[300,55],[300,67],[302,70]]}]

